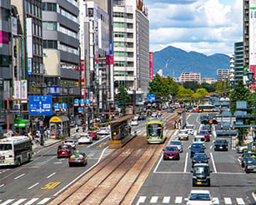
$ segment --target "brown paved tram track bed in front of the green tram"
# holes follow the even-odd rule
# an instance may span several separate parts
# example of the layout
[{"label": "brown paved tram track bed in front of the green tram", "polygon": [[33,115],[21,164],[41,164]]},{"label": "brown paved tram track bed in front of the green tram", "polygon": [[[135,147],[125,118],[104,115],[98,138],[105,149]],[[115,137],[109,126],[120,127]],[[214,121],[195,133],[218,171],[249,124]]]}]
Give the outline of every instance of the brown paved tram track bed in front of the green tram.
[{"label": "brown paved tram track bed in front of the green tram", "polygon": [[130,204],[163,146],[138,135],[50,204]]}]

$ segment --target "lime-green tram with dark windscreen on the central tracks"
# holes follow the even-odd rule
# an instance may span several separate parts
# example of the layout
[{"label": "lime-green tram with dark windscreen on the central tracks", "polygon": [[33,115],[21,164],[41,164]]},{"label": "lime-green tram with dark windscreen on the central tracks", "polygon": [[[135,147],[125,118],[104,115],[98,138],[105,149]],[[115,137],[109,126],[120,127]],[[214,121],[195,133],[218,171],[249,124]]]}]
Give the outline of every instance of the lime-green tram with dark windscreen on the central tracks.
[{"label": "lime-green tram with dark windscreen on the central tracks", "polygon": [[150,120],[146,129],[148,144],[161,144],[166,139],[166,120]]}]

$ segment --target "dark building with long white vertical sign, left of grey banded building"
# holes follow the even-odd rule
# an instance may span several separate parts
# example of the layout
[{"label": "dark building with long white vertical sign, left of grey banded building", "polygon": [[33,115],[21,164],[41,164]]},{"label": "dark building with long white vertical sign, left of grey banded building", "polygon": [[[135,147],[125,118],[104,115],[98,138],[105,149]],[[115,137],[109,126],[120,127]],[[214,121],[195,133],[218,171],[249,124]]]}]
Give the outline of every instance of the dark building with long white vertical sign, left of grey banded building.
[{"label": "dark building with long white vertical sign, left of grey banded building", "polygon": [[[17,18],[18,24],[13,45],[16,51],[21,51],[13,59],[14,80],[27,80],[28,95],[37,95],[40,90],[33,89],[32,85],[40,86],[44,81],[42,0],[13,0],[12,6],[13,17]],[[14,90],[17,88],[18,82]]]}]

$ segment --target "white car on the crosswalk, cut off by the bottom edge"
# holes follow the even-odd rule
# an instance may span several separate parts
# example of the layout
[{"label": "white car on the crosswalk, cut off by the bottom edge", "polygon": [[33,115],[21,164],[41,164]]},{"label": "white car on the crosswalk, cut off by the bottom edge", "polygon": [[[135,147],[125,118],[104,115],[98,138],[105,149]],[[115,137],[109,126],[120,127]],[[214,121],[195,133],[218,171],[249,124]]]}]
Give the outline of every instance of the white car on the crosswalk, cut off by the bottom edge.
[{"label": "white car on the crosswalk, cut off by the bottom edge", "polygon": [[208,190],[191,190],[185,201],[187,205],[213,205],[213,198]]}]

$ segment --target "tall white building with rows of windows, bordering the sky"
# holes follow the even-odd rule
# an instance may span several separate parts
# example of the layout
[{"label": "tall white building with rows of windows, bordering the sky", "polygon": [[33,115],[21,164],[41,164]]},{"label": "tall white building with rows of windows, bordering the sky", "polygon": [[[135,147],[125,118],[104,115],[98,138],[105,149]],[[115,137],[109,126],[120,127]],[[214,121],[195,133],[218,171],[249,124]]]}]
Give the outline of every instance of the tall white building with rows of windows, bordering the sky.
[{"label": "tall white building with rows of windows, bordering the sky", "polygon": [[149,82],[148,9],[141,0],[113,0],[113,76],[115,89],[146,97]]}]

